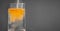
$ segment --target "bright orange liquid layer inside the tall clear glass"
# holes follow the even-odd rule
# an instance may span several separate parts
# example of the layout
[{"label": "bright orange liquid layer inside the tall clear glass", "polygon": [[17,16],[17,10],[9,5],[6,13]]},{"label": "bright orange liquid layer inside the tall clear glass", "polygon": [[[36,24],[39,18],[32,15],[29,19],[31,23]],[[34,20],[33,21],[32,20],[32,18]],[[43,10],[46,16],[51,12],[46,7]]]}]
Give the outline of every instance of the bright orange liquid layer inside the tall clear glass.
[{"label": "bright orange liquid layer inside the tall clear glass", "polygon": [[23,8],[9,8],[8,14],[10,22],[22,21],[25,10]]}]

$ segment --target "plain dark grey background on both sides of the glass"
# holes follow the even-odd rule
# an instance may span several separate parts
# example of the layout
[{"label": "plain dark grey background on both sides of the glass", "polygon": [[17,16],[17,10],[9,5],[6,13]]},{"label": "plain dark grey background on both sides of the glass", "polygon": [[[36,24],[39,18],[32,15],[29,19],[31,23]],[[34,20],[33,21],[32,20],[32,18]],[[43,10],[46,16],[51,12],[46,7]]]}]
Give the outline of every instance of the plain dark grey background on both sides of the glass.
[{"label": "plain dark grey background on both sides of the glass", "polygon": [[[23,0],[26,4],[27,31],[60,31],[59,0]],[[7,31],[7,9],[12,0],[0,0],[1,31]]]}]

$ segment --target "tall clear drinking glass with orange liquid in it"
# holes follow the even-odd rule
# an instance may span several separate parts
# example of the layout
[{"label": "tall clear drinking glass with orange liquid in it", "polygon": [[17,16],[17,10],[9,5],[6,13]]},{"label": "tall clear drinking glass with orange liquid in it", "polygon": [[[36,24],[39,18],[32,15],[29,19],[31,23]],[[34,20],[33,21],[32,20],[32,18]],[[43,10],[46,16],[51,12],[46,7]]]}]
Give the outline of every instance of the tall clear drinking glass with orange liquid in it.
[{"label": "tall clear drinking glass with orange liquid in it", "polygon": [[25,31],[25,4],[10,3],[8,8],[8,31]]}]

